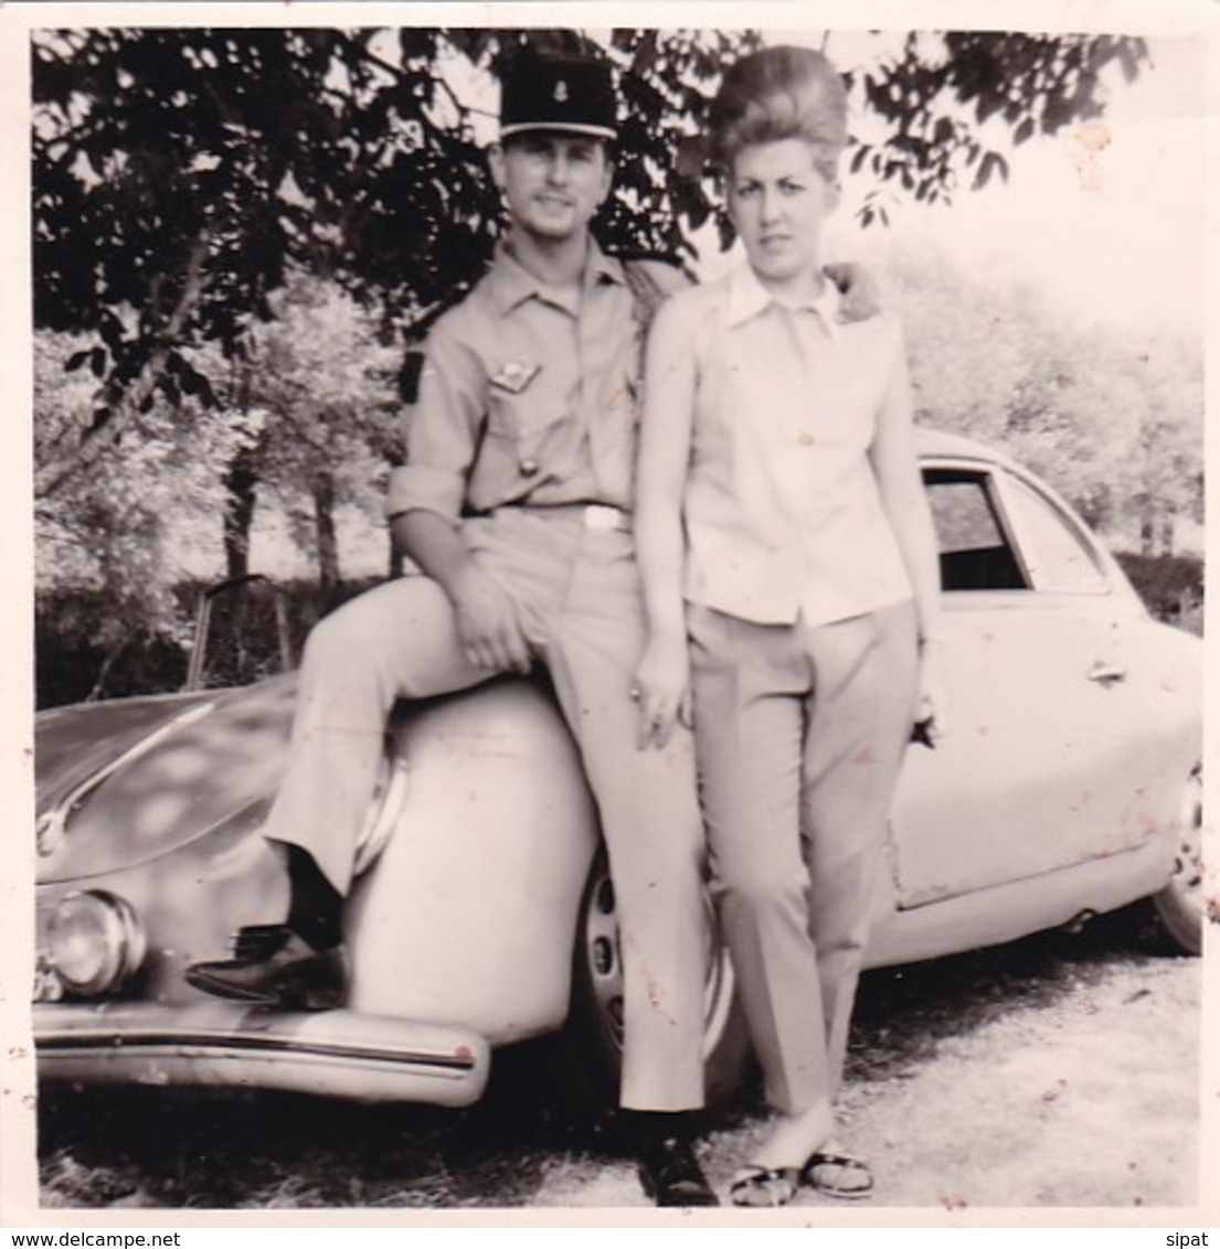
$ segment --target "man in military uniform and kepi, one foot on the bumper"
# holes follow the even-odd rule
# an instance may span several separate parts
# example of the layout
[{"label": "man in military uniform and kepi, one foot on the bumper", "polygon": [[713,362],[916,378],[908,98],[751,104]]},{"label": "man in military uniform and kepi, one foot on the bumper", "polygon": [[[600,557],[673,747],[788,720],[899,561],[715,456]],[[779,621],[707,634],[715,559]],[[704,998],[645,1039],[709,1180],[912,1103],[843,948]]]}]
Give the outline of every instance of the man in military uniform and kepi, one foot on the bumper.
[{"label": "man in military uniform and kepi, one foot on the bumper", "polygon": [[[504,84],[491,172],[510,232],[435,325],[390,483],[394,537],[424,576],[311,633],[289,771],[265,836],[285,847],[284,926],[191,968],[210,993],[342,1000],[342,899],[399,698],[545,664],[598,802],[625,977],[621,1105],[660,1205],[716,1204],[690,1149],[702,1104],[702,829],[689,732],[640,749],[631,673],[644,608],[631,538],[646,299],[589,224],[610,192],[605,62],[530,57]],[[655,266],[651,284],[665,281]],[[674,279],[668,279],[672,281]],[[544,782],[540,782],[544,783]]]}]

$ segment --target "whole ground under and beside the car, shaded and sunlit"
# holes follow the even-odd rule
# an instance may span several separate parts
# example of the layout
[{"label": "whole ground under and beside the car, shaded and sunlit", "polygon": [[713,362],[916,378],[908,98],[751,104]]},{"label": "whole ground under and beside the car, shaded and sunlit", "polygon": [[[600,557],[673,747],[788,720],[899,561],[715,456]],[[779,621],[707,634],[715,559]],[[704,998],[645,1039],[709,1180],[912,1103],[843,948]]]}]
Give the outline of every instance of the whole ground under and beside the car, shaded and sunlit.
[{"label": "whole ground under and beside the car, shaded and sunlit", "polygon": [[[869,973],[841,1102],[874,1165],[862,1208],[1199,1202],[1204,963],[1138,918]],[[641,1208],[612,1132],[574,1129],[549,1052],[498,1062],[465,1112],[270,1094],[48,1090],[41,1200],[65,1207]],[[756,1082],[700,1150],[724,1193],[765,1128]],[[809,1209],[834,1205],[802,1194]],[[850,1207],[861,1208],[859,1203]]]}]

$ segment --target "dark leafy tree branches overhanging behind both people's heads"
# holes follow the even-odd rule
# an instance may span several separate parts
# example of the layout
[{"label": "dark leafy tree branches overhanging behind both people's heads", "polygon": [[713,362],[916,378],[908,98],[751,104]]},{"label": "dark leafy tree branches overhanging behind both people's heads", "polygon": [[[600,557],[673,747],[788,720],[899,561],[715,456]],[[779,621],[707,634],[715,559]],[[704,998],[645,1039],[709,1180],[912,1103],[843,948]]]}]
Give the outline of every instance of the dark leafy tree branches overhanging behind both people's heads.
[{"label": "dark leafy tree branches overhanging behind both people's heads", "polygon": [[[75,443],[40,461],[64,487],[155,395],[216,406],[191,348],[240,360],[294,265],[415,322],[481,272],[499,204],[476,144],[490,86],[526,41],[596,46],[620,70],[616,247],[680,254],[715,220],[706,111],[720,67],[759,31],[75,29],[35,32],[34,261],[40,327],[88,333],[101,390]],[[1006,176],[982,127],[1016,142],[1100,111],[1110,36],[911,35],[849,72],[878,134],[858,172],[921,200]],[[486,92],[484,91],[484,95]],[[876,129],[876,127],[875,127]],[[865,221],[884,205],[865,205]],[[239,497],[244,478],[230,482]]]}]

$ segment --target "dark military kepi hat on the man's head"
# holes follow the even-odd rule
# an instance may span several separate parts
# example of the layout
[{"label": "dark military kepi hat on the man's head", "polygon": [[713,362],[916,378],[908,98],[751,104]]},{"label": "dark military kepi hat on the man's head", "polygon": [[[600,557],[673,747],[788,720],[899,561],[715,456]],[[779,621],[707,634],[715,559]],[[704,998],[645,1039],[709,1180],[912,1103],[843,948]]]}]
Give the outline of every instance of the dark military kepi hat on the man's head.
[{"label": "dark military kepi hat on the man's head", "polygon": [[618,127],[610,66],[591,56],[519,56],[504,75],[500,137],[525,130],[614,139]]}]

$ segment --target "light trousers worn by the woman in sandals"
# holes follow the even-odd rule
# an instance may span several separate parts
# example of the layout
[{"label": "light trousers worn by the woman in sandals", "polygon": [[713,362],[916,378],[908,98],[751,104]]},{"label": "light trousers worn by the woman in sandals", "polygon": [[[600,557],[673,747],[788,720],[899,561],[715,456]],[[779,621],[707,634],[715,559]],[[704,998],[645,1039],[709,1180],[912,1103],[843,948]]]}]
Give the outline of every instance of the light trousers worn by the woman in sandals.
[{"label": "light trousers worn by the woman in sandals", "polygon": [[831,624],[691,606],[714,889],[769,1103],[832,1102],[915,711],[910,601]]}]

